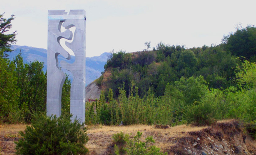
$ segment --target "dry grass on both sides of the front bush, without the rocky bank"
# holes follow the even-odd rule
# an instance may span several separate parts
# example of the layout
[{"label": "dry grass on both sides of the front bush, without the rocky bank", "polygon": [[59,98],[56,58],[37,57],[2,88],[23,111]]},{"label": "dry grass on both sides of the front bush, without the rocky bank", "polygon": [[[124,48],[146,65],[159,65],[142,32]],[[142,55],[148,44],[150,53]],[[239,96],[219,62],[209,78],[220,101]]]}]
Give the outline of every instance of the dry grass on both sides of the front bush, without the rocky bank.
[{"label": "dry grass on both sides of the front bush, without the rocky bank", "polygon": [[[15,154],[14,141],[17,141],[20,136],[18,131],[25,130],[26,125],[17,124],[0,125],[0,147],[1,154]],[[186,125],[169,127],[167,129],[156,129],[154,126],[133,125],[133,126],[88,126],[89,141],[86,147],[90,154],[103,154],[112,144],[112,135],[123,131],[125,134],[134,136],[137,131],[141,131],[143,139],[152,135],[155,139],[155,145],[161,149],[168,148],[173,145],[169,139],[186,136],[186,132],[199,131],[206,127],[191,127]]]}]

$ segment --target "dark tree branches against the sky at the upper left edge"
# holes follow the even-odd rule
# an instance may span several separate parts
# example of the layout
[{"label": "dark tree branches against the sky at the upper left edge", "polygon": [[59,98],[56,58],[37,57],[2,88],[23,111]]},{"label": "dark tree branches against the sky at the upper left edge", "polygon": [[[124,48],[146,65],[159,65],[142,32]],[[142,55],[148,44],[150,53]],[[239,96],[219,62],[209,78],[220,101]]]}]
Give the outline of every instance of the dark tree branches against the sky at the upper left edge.
[{"label": "dark tree branches against the sky at the upper left edge", "polygon": [[4,54],[1,55],[2,57],[8,56],[6,52],[13,51],[10,47],[11,44],[16,42],[16,31],[11,34],[5,34],[12,27],[11,20],[14,20],[14,15],[6,19],[3,17],[3,14],[0,14],[0,51],[4,52]]}]

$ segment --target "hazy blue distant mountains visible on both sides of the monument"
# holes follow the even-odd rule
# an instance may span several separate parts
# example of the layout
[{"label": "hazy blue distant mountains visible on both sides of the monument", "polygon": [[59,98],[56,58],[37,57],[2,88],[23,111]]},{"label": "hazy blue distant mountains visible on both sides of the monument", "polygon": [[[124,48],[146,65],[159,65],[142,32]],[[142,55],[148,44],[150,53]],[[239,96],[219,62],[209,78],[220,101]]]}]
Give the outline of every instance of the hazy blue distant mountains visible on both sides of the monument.
[{"label": "hazy blue distant mountains visible on both sides of the monument", "polygon": [[[33,62],[35,60],[44,63],[44,72],[47,69],[47,50],[43,48],[35,48],[28,46],[12,45],[12,51],[9,54],[9,59],[12,60],[21,50],[21,56],[23,57],[24,63]],[[96,78],[101,76],[101,72],[104,71],[104,65],[107,61],[108,56],[111,53],[102,53],[100,56],[87,57],[86,58],[86,86],[94,81]],[[65,60],[64,57],[59,57],[60,60]]]}]

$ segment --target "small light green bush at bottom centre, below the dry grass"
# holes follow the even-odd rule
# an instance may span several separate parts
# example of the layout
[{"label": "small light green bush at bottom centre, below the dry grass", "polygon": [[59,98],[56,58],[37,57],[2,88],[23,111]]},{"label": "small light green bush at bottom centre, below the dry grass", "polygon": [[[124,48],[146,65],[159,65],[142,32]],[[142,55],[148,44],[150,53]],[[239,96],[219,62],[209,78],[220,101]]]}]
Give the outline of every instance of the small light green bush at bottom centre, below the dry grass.
[{"label": "small light green bush at bottom centre, below the dry grass", "polygon": [[128,155],[167,155],[167,153],[160,152],[160,148],[155,145],[150,145],[150,143],[155,143],[152,136],[147,137],[145,142],[141,141],[142,133],[137,132],[137,135],[133,139],[126,139],[127,146],[125,148]]}]

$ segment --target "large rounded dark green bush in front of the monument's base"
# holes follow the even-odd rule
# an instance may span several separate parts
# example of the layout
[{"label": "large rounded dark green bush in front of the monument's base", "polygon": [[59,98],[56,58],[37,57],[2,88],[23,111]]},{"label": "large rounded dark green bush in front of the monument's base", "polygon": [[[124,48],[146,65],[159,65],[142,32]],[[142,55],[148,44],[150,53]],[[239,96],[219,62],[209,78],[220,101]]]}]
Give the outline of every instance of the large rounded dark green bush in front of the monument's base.
[{"label": "large rounded dark green bush in front of the monument's base", "polygon": [[31,126],[20,131],[22,138],[16,142],[17,154],[87,154],[86,128],[79,120],[71,122],[70,117],[35,115]]}]

